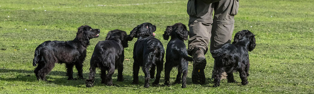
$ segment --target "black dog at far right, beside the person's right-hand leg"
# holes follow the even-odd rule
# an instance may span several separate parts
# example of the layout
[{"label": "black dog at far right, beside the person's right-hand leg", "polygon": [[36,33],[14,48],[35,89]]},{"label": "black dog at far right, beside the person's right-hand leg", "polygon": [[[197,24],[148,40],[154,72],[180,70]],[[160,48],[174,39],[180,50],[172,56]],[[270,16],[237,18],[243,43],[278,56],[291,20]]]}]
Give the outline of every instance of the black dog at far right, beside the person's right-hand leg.
[{"label": "black dog at far right, beside the person's right-hand leg", "polygon": [[217,54],[216,68],[214,74],[214,87],[220,85],[220,78],[223,72],[227,72],[228,82],[236,82],[233,78],[233,72],[240,73],[241,84],[248,83],[250,60],[248,51],[252,51],[256,46],[255,35],[249,30],[237,32],[232,44],[224,44],[221,48],[211,51]]}]

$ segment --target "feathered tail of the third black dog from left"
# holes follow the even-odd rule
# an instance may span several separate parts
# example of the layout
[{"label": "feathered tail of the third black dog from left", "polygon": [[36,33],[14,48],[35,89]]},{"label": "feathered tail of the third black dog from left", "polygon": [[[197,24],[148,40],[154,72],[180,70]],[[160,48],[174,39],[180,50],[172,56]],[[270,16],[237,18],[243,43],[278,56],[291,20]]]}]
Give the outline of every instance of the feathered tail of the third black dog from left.
[{"label": "feathered tail of the third black dog from left", "polygon": [[153,63],[156,64],[156,62],[154,61],[159,61],[163,64],[165,55],[165,49],[163,45],[161,43],[158,43],[157,41],[153,41],[147,48],[149,50],[154,50],[153,53],[149,54],[149,57],[153,59]]}]

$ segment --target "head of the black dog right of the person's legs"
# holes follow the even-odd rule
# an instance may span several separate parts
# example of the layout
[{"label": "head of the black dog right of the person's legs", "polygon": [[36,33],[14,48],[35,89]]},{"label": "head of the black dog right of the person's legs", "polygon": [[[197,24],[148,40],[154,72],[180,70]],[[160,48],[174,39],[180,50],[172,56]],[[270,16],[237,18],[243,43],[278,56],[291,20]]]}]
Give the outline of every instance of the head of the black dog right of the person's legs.
[{"label": "head of the black dog right of the person's legs", "polygon": [[242,38],[248,38],[250,40],[250,44],[248,45],[248,49],[249,51],[254,50],[256,43],[255,43],[255,35],[249,31],[249,30],[242,30],[236,33],[232,44],[235,44],[236,42],[238,42],[239,40],[241,40]]}]

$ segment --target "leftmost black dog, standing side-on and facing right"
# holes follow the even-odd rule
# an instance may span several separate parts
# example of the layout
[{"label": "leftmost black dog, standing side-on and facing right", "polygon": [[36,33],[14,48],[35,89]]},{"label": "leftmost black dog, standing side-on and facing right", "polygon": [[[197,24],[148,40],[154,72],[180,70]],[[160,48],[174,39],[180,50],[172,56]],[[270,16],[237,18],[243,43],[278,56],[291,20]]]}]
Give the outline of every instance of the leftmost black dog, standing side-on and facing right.
[{"label": "leftmost black dog, standing side-on and facing right", "polygon": [[89,39],[99,37],[100,30],[92,29],[85,25],[78,28],[76,37],[72,41],[45,41],[35,50],[33,66],[37,80],[47,81],[46,75],[55,66],[55,63],[65,63],[67,68],[68,80],[73,78],[73,65],[78,70],[78,79],[83,77],[83,61],[86,56],[86,48],[89,45]]}]

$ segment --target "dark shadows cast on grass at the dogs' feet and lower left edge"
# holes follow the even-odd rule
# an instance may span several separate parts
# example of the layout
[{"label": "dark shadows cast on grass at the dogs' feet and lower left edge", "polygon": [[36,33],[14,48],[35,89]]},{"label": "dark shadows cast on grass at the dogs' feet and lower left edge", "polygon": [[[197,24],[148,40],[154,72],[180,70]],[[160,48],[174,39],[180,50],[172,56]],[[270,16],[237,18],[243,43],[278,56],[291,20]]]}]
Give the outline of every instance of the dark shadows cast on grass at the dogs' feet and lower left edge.
[{"label": "dark shadows cast on grass at the dogs' feet and lower left edge", "polygon": [[[18,75],[12,75],[11,78],[0,78],[0,80],[3,81],[25,81],[25,82],[35,82],[37,81],[36,76],[34,74],[33,70],[14,70],[14,69],[0,69],[0,73],[8,73],[8,72],[15,72],[15,73],[25,73],[25,74],[18,74]],[[89,73],[83,73],[83,76],[85,78],[87,78]],[[46,83],[53,83],[56,85],[62,85],[62,86],[76,86],[76,87],[85,87],[85,79],[79,79],[79,80],[67,80],[68,77],[65,76],[66,72],[64,71],[51,71],[49,73],[48,76],[46,76],[46,78],[48,80],[52,80],[51,82],[46,82]],[[61,78],[53,78],[51,76],[63,76]],[[76,77],[76,73],[73,73],[73,76]],[[143,87],[144,86],[144,76],[139,75],[138,79],[139,79],[139,84],[132,84],[133,81],[133,76],[129,76],[129,75],[123,75],[124,81],[119,82],[116,81],[117,80],[117,73],[115,73],[112,76],[112,82],[113,84],[115,84],[114,86],[116,87]],[[170,86],[175,85],[174,81],[175,81],[176,77],[171,77],[170,80],[173,82],[170,82]],[[163,76],[160,78],[160,85],[154,86],[152,85],[152,82],[154,82],[155,79],[150,79],[149,81],[149,85],[151,87],[164,87],[164,78]],[[211,87],[212,86],[212,81],[211,79],[206,79],[206,82],[204,85],[202,86],[208,86]],[[187,77],[187,85],[191,85],[192,83],[192,78],[191,77]],[[95,78],[95,83],[94,86],[106,86],[105,84],[101,84],[101,79],[100,79],[100,74],[96,74],[96,78]]]}]

